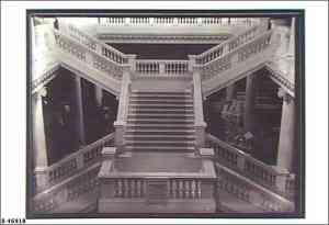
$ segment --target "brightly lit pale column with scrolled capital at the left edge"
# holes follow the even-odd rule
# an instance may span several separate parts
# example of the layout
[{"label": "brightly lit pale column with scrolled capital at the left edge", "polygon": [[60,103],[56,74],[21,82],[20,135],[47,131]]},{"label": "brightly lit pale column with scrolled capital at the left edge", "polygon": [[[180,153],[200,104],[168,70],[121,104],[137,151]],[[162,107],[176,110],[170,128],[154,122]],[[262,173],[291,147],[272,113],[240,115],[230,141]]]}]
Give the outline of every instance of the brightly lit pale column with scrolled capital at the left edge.
[{"label": "brightly lit pale column with scrolled capital at the left edge", "polygon": [[34,153],[34,175],[36,187],[44,187],[47,183],[46,169],[48,167],[48,154],[46,147],[43,97],[47,94],[45,88],[36,92],[32,98],[33,114],[33,153]]}]

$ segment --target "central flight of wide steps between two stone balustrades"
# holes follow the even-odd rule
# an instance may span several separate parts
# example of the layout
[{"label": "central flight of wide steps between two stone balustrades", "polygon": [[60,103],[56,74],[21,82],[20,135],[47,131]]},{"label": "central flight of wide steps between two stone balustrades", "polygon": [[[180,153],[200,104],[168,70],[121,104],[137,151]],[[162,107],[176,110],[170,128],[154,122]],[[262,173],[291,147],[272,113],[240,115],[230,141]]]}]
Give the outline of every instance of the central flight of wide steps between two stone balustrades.
[{"label": "central flight of wide steps between two stone balustrades", "polygon": [[138,91],[129,98],[125,149],[193,151],[193,98],[185,91]]}]

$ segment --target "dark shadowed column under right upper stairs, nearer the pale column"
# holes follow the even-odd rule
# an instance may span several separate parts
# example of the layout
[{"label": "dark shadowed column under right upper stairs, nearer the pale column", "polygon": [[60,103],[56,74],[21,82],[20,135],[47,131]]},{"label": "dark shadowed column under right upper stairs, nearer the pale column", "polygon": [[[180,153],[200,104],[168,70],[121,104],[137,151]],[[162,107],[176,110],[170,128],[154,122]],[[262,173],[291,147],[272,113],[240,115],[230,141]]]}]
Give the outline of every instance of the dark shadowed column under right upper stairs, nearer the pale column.
[{"label": "dark shadowed column under right upper stairs, nearer the pale column", "polygon": [[254,99],[256,99],[256,78],[257,75],[249,75],[246,85],[245,114],[243,124],[245,131],[249,132],[254,126]]}]

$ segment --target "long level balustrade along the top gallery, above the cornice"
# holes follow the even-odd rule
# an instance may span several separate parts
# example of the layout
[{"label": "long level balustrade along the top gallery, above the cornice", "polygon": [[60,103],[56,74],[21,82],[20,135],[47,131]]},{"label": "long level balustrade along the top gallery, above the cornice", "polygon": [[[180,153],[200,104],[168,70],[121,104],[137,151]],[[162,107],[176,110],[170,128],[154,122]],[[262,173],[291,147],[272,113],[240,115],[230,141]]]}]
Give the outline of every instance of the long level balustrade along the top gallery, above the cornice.
[{"label": "long level balustrade along the top gallery, above the cornice", "polygon": [[249,18],[100,18],[102,26],[129,25],[202,25],[202,26],[251,26],[259,24],[259,19]]}]

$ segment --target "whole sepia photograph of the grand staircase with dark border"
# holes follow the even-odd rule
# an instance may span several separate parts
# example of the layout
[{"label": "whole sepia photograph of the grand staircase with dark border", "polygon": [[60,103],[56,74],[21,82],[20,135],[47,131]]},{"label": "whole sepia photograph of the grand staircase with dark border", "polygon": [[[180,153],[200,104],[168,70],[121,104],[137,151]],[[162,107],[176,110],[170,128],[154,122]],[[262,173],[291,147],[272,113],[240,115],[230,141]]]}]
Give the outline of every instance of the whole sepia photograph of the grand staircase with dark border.
[{"label": "whole sepia photograph of the grand staircase with dark border", "polygon": [[305,216],[304,10],[30,9],[26,48],[27,218]]}]

